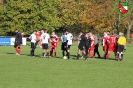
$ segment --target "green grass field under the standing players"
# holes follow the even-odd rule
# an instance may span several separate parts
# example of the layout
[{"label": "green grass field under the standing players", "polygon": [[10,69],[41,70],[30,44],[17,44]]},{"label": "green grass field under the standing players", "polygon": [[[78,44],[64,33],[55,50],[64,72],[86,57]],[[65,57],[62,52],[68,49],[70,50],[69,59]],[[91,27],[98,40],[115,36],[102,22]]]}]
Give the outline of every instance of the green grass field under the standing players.
[{"label": "green grass field under the standing players", "polygon": [[[133,46],[127,46],[123,61],[89,58],[64,60],[60,46],[57,58],[29,56],[30,46],[15,55],[13,46],[0,46],[0,88],[133,88]],[[102,48],[100,53],[103,55]],[[71,47],[74,58],[77,46]],[[111,58],[113,58],[111,53]]]}]

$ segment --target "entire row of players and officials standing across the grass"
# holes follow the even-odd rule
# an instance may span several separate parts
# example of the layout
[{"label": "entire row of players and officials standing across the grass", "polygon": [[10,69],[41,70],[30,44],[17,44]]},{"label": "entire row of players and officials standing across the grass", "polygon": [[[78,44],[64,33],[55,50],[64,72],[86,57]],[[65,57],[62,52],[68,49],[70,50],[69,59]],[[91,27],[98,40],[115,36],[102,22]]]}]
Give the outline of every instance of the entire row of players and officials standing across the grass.
[{"label": "entire row of players and officials standing across the grass", "polygon": [[[20,45],[22,43],[18,43],[18,41],[21,40],[19,38],[19,34],[20,33],[17,30],[15,36],[15,49],[17,55],[20,55]],[[31,40],[30,55],[32,57],[34,57],[34,52],[37,45],[41,46],[42,48],[42,57],[56,57],[59,37],[55,34],[54,31],[52,32],[51,36],[47,33],[47,30],[41,30],[40,32],[33,31],[29,39]],[[70,59],[70,47],[73,42],[73,35],[68,30],[65,30],[60,39],[62,42],[62,56],[64,59]],[[102,37],[104,59],[108,60],[110,58],[110,52],[114,52],[115,60],[118,61],[119,59],[122,61],[125,44],[126,38],[123,36],[122,32],[119,32],[119,36],[116,36],[114,33],[110,34],[110,32],[104,32]],[[80,52],[82,52],[85,60],[87,60],[89,57],[94,58],[95,53],[97,53],[98,57],[101,58],[98,51],[98,45],[99,42],[96,35],[91,32],[80,32],[78,36],[78,51],[75,60],[80,58]]]}]

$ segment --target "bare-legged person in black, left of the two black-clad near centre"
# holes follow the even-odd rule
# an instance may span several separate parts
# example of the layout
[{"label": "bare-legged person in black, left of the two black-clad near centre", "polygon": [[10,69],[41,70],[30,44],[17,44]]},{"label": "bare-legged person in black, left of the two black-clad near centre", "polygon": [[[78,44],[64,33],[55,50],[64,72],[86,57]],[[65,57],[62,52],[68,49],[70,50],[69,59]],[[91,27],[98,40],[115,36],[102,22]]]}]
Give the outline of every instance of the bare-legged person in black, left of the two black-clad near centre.
[{"label": "bare-legged person in black, left of the two black-clad near centre", "polygon": [[[85,41],[86,41],[86,39],[85,39],[85,34],[82,33],[82,32],[80,32],[80,35],[79,35],[79,45],[78,45],[78,52],[77,52],[77,56],[76,56],[75,60],[78,60],[78,59],[79,59],[79,57],[80,57],[80,52],[81,52],[81,51],[83,52],[84,55],[86,54],[86,53],[85,53]],[[84,56],[84,55],[83,55],[83,56]]]}]

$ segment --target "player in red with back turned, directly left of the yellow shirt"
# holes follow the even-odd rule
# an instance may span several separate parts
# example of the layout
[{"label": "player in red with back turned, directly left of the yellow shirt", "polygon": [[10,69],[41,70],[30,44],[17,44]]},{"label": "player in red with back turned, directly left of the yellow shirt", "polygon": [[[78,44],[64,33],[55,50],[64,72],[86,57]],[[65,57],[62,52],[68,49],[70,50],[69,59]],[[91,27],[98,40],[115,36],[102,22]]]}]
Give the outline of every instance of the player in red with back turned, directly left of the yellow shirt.
[{"label": "player in red with back turned, directly left of the yellow shirt", "polygon": [[112,33],[112,35],[109,37],[108,39],[109,41],[109,48],[108,48],[108,53],[107,53],[107,56],[106,58],[108,59],[110,57],[110,52],[114,52],[115,54],[115,59],[116,59],[116,41],[117,41],[117,38],[115,36],[114,33]]}]

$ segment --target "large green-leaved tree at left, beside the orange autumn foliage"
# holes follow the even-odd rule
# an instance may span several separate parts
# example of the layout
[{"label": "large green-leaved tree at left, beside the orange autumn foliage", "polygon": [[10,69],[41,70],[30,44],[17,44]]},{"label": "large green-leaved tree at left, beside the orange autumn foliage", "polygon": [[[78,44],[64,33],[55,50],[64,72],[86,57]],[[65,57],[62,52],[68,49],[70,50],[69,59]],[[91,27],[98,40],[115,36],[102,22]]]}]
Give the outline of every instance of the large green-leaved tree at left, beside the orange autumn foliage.
[{"label": "large green-leaved tree at left, beside the orange autumn foliage", "polygon": [[41,28],[58,29],[57,4],[58,0],[6,0],[0,10],[1,30],[9,35],[15,29],[26,34]]}]

